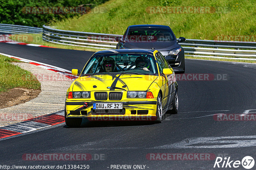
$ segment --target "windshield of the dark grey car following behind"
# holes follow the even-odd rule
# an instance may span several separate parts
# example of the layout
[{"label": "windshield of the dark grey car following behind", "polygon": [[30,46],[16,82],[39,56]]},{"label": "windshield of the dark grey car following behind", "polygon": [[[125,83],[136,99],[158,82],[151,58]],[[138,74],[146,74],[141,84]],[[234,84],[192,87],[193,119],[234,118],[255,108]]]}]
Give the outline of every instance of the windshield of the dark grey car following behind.
[{"label": "windshield of the dark grey car following behind", "polygon": [[130,41],[173,41],[174,36],[166,28],[130,28],[126,40]]}]

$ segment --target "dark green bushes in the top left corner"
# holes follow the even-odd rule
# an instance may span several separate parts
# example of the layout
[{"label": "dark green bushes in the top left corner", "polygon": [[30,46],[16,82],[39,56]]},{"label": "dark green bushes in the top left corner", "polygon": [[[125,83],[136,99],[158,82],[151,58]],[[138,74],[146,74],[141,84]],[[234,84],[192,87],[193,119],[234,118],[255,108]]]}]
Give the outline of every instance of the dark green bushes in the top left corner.
[{"label": "dark green bushes in the top left corner", "polygon": [[0,3],[0,23],[42,27],[51,21],[60,21],[80,14],[26,14],[24,7],[84,7],[93,8],[107,0],[2,0]]}]

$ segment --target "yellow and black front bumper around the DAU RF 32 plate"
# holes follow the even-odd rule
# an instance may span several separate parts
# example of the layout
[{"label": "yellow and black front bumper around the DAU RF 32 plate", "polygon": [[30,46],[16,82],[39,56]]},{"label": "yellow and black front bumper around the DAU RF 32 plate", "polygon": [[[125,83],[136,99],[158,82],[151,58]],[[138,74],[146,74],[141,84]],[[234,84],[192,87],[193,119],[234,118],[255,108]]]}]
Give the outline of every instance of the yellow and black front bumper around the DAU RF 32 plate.
[{"label": "yellow and black front bumper around the DAU RF 32 plate", "polygon": [[[95,110],[93,103],[123,103],[123,109]],[[92,121],[156,120],[156,99],[147,101],[74,101],[66,100],[67,118],[88,118]]]}]

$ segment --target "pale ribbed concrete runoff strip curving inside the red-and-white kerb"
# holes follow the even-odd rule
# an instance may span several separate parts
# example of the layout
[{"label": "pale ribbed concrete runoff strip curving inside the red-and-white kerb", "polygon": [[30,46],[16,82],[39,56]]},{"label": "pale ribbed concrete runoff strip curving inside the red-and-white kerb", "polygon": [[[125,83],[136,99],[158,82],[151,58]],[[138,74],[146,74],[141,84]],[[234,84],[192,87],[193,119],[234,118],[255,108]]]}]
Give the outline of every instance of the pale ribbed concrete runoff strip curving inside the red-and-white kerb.
[{"label": "pale ribbed concrete runoff strip curving inside the red-and-white kerb", "polygon": [[64,109],[71,79],[29,63],[13,64],[30,71],[37,77],[41,83],[41,93],[26,103],[0,109],[0,127]]}]

